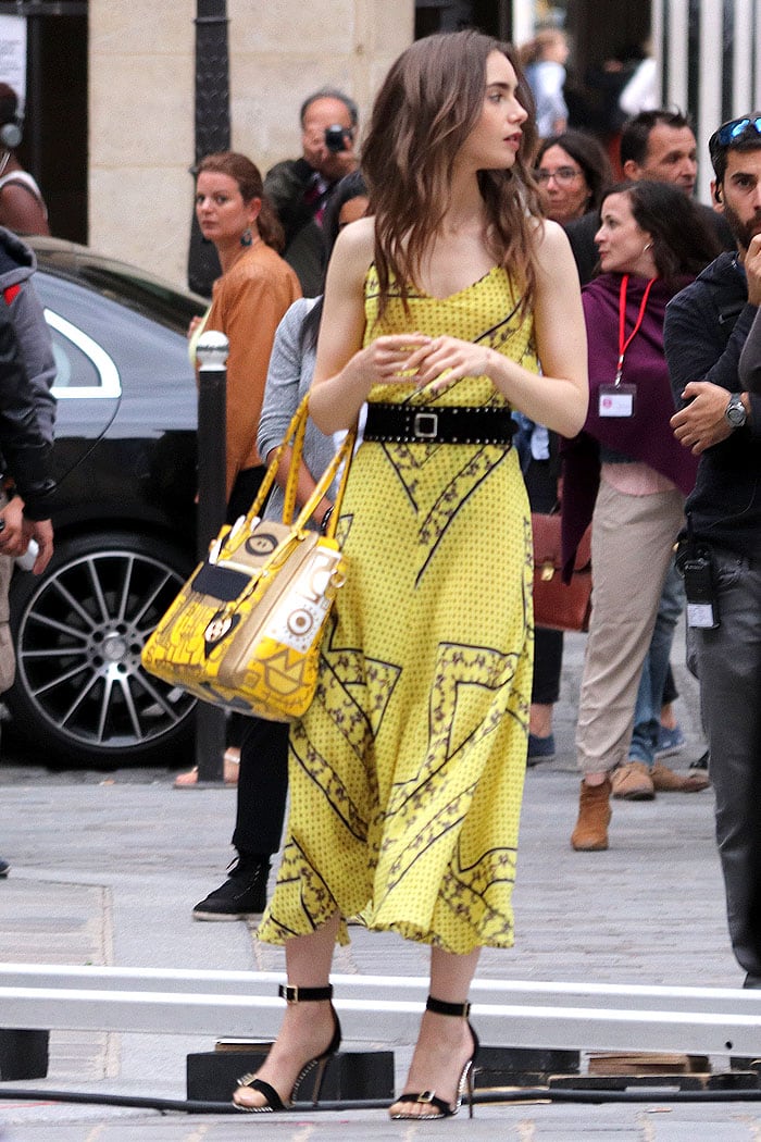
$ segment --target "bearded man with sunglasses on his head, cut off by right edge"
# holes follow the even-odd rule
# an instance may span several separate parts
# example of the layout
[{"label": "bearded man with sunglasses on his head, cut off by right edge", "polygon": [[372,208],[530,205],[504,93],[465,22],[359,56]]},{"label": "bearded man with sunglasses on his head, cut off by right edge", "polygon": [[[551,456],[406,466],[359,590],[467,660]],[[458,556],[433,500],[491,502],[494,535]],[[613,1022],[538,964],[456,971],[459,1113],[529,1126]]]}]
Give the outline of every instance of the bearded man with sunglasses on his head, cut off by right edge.
[{"label": "bearded man with sunglasses on his head, cut off by right edge", "polygon": [[761,115],[710,139],[712,193],[736,239],[669,305],[677,439],[701,457],[678,564],[701,681],[732,949],[761,987],[761,395],[740,353],[761,304]]}]

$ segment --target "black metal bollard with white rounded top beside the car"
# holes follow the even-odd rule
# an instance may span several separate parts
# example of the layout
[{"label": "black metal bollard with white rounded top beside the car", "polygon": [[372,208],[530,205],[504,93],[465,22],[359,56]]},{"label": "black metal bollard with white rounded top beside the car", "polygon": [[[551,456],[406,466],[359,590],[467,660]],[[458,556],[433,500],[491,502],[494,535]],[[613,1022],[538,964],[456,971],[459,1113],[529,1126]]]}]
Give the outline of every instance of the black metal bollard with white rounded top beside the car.
[{"label": "black metal bollard with white rounded top beside the car", "polygon": [[[199,513],[196,542],[199,558],[225,522],[227,504],[227,351],[224,333],[209,330],[199,338]],[[224,780],[225,711],[199,702],[195,722],[195,764],[199,785]]]}]

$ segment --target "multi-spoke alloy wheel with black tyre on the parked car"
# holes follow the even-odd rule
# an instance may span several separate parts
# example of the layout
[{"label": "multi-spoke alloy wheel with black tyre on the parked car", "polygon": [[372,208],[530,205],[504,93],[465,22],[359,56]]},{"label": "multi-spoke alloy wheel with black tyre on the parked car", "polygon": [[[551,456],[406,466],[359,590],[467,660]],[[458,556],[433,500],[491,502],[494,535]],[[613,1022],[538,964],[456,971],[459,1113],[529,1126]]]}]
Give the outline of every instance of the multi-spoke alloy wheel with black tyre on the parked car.
[{"label": "multi-spoke alloy wheel with black tyre on the parked car", "polygon": [[140,665],[140,651],[189,562],[152,537],[64,539],[41,578],[10,590],[14,725],[46,761],[96,767],[165,764],[193,731],[195,700]]}]

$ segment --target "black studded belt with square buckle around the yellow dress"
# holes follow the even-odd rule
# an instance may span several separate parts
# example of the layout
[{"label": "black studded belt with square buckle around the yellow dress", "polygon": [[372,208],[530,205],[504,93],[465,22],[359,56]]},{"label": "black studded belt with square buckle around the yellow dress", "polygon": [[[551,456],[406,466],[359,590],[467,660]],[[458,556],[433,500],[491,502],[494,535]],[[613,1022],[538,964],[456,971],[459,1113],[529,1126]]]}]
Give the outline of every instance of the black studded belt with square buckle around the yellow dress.
[{"label": "black studded belt with square buckle around the yellow dress", "polygon": [[491,405],[367,405],[364,440],[404,444],[503,444],[512,447],[516,423],[508,409]]}]

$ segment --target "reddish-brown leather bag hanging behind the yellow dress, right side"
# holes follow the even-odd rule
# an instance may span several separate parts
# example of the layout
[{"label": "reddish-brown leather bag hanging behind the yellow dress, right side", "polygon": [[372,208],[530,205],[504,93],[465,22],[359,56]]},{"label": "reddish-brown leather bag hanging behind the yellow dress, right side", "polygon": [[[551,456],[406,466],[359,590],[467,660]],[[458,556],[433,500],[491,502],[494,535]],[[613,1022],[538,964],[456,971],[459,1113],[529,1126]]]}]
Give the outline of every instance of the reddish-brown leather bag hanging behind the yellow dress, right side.
[{"label": "reddish-brown leather bag hanging behind the yellow dress, right side", "polygon": [[560,514],[532,513],[534,532],[534,626],[550,630],[589,630],[592,610],[592,529],[576,552],[572,580],[561,577]]}]

